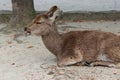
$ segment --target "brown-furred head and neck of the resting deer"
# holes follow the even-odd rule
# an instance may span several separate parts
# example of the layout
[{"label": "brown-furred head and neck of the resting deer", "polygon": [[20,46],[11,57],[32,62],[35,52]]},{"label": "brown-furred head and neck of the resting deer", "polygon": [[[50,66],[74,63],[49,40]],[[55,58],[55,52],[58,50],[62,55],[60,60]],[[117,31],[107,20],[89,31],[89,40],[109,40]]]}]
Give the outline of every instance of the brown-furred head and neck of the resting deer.
[{"label": "brown-furred head and neck of the resting deer", "polygon": [[[58,33],[55,21],[51,22],[49,15],[53,15],[56,10],[60,11],[57,6],[53,6],[47,13],[40,14],[26,27],[27,32],[42,36],[45,46],[55,56],[61,51],[61,35]],[[60,13],[61,14],[61,13]],[[46,17],[47,16],[47,17]],[[58,16],[58,15],[57,15]]]}]

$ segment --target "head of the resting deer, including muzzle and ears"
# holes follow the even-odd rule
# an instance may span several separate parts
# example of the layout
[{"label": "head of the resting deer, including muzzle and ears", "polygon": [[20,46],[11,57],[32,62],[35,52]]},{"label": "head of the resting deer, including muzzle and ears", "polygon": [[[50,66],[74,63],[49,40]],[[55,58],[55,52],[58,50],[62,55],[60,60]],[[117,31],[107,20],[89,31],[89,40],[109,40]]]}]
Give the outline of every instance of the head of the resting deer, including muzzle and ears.
[{"label": "head of the resting deer, including muzzle and ears", "polygon": [[46,35],[49,33],[56,19],[61,17],[61,14],[62,11],[57,6],[53,6],[48,12],[36,16],[25,28],[26,33]]}]

